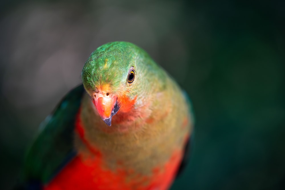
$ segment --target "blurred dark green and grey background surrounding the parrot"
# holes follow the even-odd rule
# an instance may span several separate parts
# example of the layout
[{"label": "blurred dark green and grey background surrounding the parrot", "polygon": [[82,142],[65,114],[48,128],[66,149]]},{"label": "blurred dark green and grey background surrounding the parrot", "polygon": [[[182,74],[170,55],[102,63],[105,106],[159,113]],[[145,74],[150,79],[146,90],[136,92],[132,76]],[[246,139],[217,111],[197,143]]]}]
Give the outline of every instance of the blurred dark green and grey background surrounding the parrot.
[{"label": "blurred dark green and grey background surrounding the parrot", "polygon": [[285,1],[1,1],[0,189],[40,122],[110,41],[190,95],[195,147],[173,189],[285,189]]}]

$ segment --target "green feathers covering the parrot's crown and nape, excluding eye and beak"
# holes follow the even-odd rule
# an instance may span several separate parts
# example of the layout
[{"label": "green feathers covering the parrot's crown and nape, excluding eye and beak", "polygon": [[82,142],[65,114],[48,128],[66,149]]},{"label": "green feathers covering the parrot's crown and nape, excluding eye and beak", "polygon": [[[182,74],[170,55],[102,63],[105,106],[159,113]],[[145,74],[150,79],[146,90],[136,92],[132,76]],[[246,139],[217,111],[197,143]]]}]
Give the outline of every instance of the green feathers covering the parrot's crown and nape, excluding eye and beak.
[{"label": "green feathers covering the parrot's crown and nape, excluding eye and beak", "polygon": [[[135,79],[130,84],[131,68],[135,71]],[[109,42],[97,48],[82,69],[82,82],[90,95],[96,86],[109,84],[111,93],[127,92],[127,96],[133,98],[139,92],[161,88],[164,78],[164,71],[150,56],[129,42]]]}]

